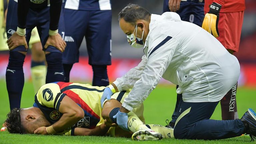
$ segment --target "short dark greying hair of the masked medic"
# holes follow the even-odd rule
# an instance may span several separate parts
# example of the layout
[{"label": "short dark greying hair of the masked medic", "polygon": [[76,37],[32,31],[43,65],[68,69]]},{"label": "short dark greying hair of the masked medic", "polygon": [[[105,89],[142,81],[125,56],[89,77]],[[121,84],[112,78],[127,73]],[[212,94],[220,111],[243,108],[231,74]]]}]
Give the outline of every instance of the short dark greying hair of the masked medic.
[{"label": "short dark greying hair of the masked medic", "polygon": [[126,22],[136,25],[137,20],[150,20],[150,12],[143,7],[135,4],[128,4],[118,14],[118,20],[123,18]]}]

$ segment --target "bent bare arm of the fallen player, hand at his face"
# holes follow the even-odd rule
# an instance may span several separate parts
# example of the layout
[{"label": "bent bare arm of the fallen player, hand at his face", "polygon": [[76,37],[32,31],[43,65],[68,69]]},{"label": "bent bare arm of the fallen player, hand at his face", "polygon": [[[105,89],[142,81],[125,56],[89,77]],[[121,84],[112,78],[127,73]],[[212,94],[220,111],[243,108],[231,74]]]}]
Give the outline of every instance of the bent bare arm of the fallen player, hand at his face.
[{"label": "bent bare arm of the fallen player, hand at his face", "polygon": [[[34,133],[55,134],[56,132],[62,132],[84,117],[83,109],[68,96],[65,96],[60,102],[59,112],[63,113],[59,121],[50,127],[39,127]],[[53,128],[53,130],[51,128]],[[49,131],[47,132],[46,130],[48,129]]]}]

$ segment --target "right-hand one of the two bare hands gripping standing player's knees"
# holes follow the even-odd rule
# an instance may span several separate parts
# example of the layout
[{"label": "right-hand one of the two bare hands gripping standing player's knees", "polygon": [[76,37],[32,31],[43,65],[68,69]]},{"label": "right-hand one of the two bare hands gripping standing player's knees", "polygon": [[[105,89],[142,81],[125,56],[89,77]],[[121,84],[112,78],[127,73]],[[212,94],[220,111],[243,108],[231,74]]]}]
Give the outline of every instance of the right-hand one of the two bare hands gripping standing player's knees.
[{"label": "right-hand one of the two bare hands gripping standing player's knees", "polygon": [[53,46],[60,50],[61,52],[64,52],[66,47],[66,42],[62,39],[60,34],[58,33],[55,36],[49,36],[46,44],[44,45],[44,48],[46,49],[48,46]]}]

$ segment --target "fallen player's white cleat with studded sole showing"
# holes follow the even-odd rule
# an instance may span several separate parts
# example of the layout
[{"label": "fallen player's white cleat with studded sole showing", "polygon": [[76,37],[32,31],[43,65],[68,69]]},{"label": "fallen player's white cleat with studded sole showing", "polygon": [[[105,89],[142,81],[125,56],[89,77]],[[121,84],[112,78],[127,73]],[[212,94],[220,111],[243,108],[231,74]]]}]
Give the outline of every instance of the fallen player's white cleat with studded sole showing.
[{"label": "fallen player's white cleat with studded sole showing", "polygon": [[148,130],[139,130],[132,134],[132,140],[160,140],[163,139],[161,133]]}]

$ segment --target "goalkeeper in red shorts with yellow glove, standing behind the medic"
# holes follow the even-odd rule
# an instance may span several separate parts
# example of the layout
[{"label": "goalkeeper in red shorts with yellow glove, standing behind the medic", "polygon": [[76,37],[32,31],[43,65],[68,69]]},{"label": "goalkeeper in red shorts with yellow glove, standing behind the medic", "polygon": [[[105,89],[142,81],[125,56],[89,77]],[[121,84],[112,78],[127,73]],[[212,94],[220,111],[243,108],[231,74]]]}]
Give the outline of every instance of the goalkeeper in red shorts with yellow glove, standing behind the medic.
[{"label": "goalkeeper in red shorts with yellow glove, standing behind the medic", "polygon": [[[205,0],[202,28],[216,37],[233,55],[238,52],[245,0]],[[220,101],[223,120],[238,119],[236,105],[237,83]]]}]

